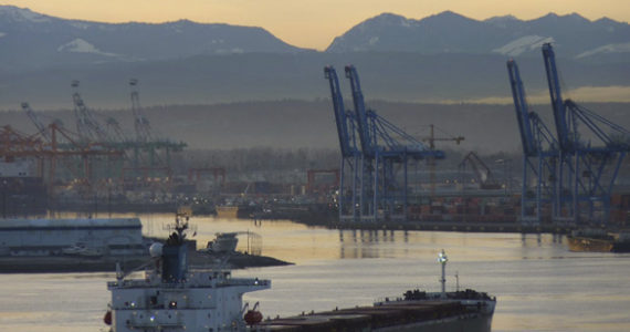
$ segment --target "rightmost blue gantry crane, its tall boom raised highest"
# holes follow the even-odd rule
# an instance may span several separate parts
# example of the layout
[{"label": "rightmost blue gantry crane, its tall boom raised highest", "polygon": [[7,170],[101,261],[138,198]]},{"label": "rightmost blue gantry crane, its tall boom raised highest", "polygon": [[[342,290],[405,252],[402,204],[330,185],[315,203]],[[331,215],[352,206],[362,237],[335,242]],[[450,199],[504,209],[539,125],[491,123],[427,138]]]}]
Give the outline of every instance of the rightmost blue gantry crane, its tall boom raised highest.
[{"label": "rightmost blue gantry crane, its tall boom raised highest", "polygon": [[605,224],[619,168],[630,152],[630,132],[575,103],[563,100],[550,43],[543,59],[559,143],[557,220]]}]

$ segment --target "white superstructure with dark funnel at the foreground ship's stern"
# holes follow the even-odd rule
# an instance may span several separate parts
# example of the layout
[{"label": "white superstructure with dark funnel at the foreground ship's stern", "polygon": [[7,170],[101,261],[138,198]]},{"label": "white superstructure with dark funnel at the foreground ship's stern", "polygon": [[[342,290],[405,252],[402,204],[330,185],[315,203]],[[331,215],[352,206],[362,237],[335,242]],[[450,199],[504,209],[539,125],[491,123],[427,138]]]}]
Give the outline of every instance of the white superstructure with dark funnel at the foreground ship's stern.
[{"label": "white superstructure with dark funnel at the foreground ship's stern", "polygon": [[[271,288],[270,280],[231,278],[229,270],[189,270],[185,242],[188,217],[176,215],[165,245],[151,245],[141,279],[117,271],[104,322],[111,332],[243,331],[262,320],[243,307],[245,292]],[[133,272],[133,271],[132,271]],[[246,311],[246,312],[245,312]],[[245,321],[246,320],[246,321]]]}]

